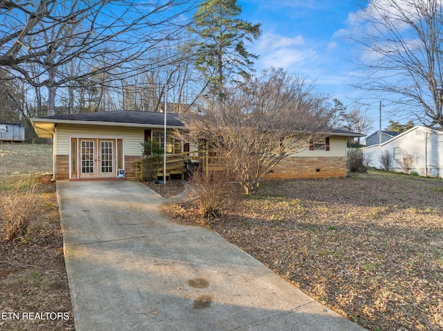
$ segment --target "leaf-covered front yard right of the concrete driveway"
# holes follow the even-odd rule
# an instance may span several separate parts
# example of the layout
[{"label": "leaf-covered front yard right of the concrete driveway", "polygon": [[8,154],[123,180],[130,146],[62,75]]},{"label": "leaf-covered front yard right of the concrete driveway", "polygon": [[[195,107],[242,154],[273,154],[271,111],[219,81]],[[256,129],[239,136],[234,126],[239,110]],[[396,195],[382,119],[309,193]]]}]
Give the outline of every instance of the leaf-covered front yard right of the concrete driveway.
[{"label": "leaf-covered front yard right of the concrete driveway", "polygon": [[382,171],[264,182],[206,224],[369,330],[443,330],[443,180]]}]

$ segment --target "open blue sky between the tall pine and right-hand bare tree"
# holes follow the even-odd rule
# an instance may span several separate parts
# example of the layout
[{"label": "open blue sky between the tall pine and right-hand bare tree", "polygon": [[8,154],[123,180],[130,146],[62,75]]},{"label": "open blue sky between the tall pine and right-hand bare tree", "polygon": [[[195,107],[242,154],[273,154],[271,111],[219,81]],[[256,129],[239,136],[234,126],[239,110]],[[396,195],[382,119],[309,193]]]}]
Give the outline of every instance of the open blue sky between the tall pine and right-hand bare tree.
[{"label": "open blue sky between the tall pine and right-hand bare tree", "polygon": [[[242,19],[262,23],[262,37],[251,51],[260,55],[257,73],[269,66],[282,67],[316,82],[318,92],[331,95],[348,109],[359,93],[352,82],[352,46],[345,38],[352,17],[359,10],[357,0],[238,0]],[[366,100],[365,102],[368,102]],[[379,127],[379,100],[368,102],[368,113]],[[382,120],[382,129],[388,119]]]}]

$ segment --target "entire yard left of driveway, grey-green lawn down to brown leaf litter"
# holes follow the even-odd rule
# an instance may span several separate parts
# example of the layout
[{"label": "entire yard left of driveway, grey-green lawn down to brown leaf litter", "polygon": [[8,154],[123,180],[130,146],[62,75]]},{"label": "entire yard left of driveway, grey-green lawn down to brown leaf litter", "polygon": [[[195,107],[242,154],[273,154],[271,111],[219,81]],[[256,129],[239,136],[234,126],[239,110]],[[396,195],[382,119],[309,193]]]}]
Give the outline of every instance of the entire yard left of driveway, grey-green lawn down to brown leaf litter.
[{"label": "entire yard left of driveway, grey-green lawn down to brown leaf litter", "polygon": [[[0,330],[74,330],[55,183],[36,174],[51,171],[51,154],[46,145],[0,144]],[[31,187],[35,200],[25,202]],[[28,230],[5,240],[11,207],[30,206]]]}]

